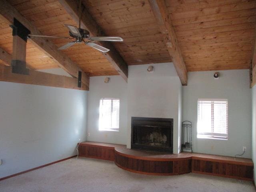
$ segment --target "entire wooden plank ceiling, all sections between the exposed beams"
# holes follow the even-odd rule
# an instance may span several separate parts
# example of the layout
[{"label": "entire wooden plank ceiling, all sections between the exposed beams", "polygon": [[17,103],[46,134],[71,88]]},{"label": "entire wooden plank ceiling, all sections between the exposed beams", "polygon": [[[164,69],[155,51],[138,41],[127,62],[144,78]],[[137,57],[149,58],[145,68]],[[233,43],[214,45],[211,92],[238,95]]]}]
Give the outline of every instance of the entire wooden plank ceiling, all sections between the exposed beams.
[{"label": "entire wooden plank ceiling, all sections between the exposed beams", "polygon": [[[42,34],[68,36],[64,24],[78,25],[58,0],[9,0]],[[171,62],[147,0],[82,0],[108,36],[120,36],[116,50],[128,65]],[[255,35],[256,0],[165,0],[188,71],[248,69]],[[58,47],[66,39],[51,39]],[[0,48],[12,54],[12,30],[0,18]],[[83,44],[63,51],[90,76],[118,72],[97,50]],[[56,68],[27,44],[28,65]]]}]

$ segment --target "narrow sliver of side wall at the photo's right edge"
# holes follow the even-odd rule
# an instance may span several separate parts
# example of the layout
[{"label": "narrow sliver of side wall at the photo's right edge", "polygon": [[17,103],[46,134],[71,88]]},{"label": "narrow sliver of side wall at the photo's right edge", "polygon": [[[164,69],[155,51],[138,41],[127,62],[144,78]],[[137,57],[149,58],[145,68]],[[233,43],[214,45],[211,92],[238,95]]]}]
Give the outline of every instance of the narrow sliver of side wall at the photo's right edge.
[{"label": "narrow sliver of side wall at the photo's right edge", "polygon": [[[252,160],[256,165],[256,85],[252,88]],[[256,168],[254,167],[254,183],[256,183]]]}]

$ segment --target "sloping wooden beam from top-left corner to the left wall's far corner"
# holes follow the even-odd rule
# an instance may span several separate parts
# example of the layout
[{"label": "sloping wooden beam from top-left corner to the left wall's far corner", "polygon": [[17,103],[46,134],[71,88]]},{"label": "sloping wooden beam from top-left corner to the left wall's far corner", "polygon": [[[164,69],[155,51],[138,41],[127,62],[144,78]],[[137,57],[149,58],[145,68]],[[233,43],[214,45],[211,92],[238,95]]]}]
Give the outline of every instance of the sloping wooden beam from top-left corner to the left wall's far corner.
[{"label": "sloping wooden beam from top-left corner to the left wall's far corner", "polygon": [[[30,23],[26,18],[24,18],[18,10],[16,10],[10,3],[6,0],[0,0],[0,14],[6,19],[6,22],[10,24],[13,23],[13,19],[16,18],[21,22],[31,34],[42,35],[42,33],[36,29],[36,27]],[[58,47],[46,38],[32,38],[31,42],[40,50],[42,50],[46,55],[52,58],[58,65],[63,68],[71,76],[78,78],[78,71],[82,71],[82,82],[89,89],[89,76],[83,72],[81,68],[77,66],[66,54],[58,50]]]}]

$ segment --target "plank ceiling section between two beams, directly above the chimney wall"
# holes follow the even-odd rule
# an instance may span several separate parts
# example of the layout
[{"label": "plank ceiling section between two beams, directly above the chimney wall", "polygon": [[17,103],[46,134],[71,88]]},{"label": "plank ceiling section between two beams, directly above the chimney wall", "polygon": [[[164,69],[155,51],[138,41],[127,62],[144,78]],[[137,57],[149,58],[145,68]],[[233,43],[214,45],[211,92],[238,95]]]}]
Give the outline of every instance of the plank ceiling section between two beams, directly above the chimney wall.
[{"label": "plank ceiling section between two beams, directly above the chimney wall", "polygon": [[147,0],[83,0],[108,36],[120,36],[116,48],[128,65],[171,62]]}]

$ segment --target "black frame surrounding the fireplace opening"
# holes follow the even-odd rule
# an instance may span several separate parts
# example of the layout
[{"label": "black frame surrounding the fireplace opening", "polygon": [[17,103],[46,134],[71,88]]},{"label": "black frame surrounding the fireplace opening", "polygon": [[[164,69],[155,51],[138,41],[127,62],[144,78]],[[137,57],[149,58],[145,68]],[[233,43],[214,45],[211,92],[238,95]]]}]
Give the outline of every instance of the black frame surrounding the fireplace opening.
[{"label": "black frame surrounding the fireplace opening", "polygon": [[[133,132],[134,132],[134,120],[145,120],[145,121],[164,121],[170,122],[170,146],[169,147],[158,147],[158,146],[145,146],[140,144],[133,143]],[[152,151],[160,151],[160,152],[171,152],[173,153],[173,118],[149,118],[149,117],[132,117],[131,122],[131,148],[132,149],[140,149],[140,150],[152,150]]]}]

